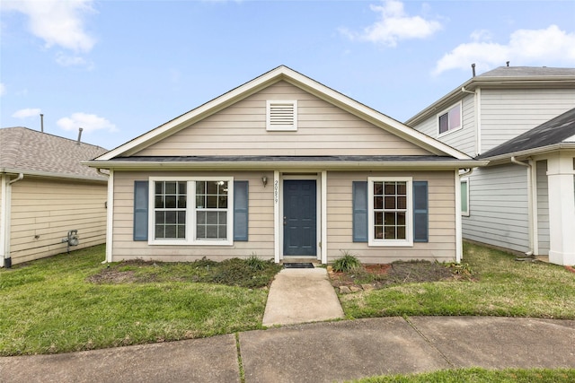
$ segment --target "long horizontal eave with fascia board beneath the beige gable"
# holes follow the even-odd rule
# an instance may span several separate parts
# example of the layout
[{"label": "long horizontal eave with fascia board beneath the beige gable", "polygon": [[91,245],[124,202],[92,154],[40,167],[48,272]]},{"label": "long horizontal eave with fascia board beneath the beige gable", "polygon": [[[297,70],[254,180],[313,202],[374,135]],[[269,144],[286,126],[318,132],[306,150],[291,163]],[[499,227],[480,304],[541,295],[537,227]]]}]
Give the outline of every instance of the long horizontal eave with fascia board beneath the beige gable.
[{"label": "long horizontal eave with fascia board beneath the beige gable", "polygon": [[86,161],[84,164],[92,168],[111,170],[305,170],[318,168],[322,170],[454,170],[469,169],[486,166],[486,160],[460,160],[460,161]]}]

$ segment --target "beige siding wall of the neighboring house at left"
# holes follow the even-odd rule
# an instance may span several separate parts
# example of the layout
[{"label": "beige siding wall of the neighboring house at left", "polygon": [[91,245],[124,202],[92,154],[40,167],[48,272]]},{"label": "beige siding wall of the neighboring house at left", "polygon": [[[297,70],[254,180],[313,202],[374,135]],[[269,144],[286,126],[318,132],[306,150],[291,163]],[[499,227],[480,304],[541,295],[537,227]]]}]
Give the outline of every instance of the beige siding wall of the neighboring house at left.
[{"label": "beige siding wall of the neighboring house at left", "polygon": [[66,252],[70,230],[80,244],[105,242],[106,184],[25,177],[12,185],[10,252],[12,263]]}]

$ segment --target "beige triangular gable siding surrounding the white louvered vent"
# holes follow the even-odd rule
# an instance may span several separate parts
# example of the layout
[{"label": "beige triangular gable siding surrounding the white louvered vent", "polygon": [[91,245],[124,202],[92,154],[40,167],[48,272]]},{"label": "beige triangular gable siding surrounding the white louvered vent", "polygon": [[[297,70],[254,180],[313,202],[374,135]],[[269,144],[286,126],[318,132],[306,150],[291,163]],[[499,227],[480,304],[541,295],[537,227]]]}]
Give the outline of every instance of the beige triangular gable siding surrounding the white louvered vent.
[{"label": "beige triangular gable siding surrounding the white louvered vent", "polygon": [[[266,100],[297,100],[297,131],[266,131]],[[426,155],[429,152],[279,82],[182,129],[137,156]]]}]

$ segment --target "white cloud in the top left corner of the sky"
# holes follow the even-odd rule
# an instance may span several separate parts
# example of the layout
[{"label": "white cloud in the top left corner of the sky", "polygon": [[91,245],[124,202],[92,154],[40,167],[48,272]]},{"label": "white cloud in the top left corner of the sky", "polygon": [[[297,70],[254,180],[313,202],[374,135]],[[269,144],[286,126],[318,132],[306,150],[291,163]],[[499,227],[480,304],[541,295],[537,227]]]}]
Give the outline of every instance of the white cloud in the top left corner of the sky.
[{"label": "white cloud in the top left corner of the sky", "polygon": [[20,0],[5,1],[3,11],[24,13],[31,33],[43,39],[47,48],[60,46],[76,52],[88,52],[95,39],[84,30],[84,14],[95,12],[93,0]]}]

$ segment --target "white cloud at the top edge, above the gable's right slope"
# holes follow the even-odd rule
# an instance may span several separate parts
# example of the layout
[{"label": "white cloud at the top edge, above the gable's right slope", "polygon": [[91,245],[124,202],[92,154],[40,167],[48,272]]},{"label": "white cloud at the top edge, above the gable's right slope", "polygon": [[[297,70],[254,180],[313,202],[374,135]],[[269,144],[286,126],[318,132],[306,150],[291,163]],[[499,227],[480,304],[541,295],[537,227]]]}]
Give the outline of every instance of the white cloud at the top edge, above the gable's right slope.
[{"label": "white cloud at the top edge, above the gable's right slope", "polygon": [[383,5],[370,5],[370,8],[381,14],[379,21],[360,33],[347,29],[341,29],[341,33],[349,39],[367,40],[387,47],[396,47],[399,40],[425,39],[442,28],[439,22],[408,15],[400,1],[388,0]]}]

